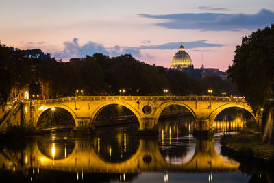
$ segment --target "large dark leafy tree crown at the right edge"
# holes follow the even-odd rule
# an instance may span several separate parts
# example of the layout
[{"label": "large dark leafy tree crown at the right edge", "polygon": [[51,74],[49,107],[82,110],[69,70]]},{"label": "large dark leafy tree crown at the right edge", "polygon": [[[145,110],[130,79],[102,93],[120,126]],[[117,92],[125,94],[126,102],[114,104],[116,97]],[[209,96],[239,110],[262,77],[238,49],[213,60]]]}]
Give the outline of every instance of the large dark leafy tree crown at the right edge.
[{"label": "large dark leafy tree crown at the right edge", "polygon": [[236,82],[254,112],[273,98],[274,91],[274,25],[258,29],[242,38],[236,47],[229,79]]}]

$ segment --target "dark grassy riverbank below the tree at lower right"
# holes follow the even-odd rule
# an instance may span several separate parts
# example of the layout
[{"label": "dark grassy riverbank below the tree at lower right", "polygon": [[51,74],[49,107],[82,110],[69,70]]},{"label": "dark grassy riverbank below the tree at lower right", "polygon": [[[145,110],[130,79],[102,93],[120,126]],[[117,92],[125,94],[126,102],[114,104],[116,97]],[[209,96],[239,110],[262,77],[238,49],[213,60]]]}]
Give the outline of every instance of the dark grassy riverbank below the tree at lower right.
[{"label": "dark grassy riverbank below the tree at lower right", "polygon": [[224,148],[236,154],[236,156],[246,156],[247,159],[253,157],[259,160],[272,160],[274,158],[274,146],[264,143],[260,132],[245,130],[233,135],[224,135],[221,138]]}]

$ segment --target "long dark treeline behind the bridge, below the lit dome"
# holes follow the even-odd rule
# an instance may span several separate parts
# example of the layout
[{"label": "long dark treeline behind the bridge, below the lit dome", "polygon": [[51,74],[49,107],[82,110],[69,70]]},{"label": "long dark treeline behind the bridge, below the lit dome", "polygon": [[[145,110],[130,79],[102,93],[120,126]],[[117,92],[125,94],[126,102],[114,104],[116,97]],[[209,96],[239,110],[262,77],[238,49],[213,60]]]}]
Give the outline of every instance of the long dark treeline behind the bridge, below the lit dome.
[{"label": "long dark treeline behind the bridge, below the lit dome", "polygon": [[[188,77],[182,71],[151,66],[126,54],[112,57],[95,53],[84,59],[60,62],[55,58],[28,58],[25,51],[0,45],[1,99],[6,101],[12,88],[27,86],[29,93],[38,94],[40,86],[48,88],[49,97],[69,97],[76,90],[83,95],[227,95],[237,94],[229,80],[210,76],[201,80]],[[80,92],[79,92],[80,93]],[[123,92],[121,93],[123,95]]]}]

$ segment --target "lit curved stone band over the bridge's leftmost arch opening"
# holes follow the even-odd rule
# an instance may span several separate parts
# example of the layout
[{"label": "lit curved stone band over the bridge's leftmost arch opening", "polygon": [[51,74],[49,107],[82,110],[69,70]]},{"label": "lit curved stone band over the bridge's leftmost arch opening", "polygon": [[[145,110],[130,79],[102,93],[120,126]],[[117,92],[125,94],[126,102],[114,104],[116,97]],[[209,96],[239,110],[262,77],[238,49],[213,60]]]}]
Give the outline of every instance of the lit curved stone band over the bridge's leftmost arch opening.
[{"label": "lit curved stone band over the bridge's leftmost arch opening", "polygon": [[45,114],[45,112],[47,112],[48,110],[50,110],[53,107],[54,108],[62,108],[63,110],[66,110],[66,112],[69,112],[69,114],[71,114],[71,117],[73,117],[73,121],[75,123],[75,119],[77,118],[77,116],[76,116],[75,112],[68,106],[62,105],[62,104],[41,105],[41,106],[39,106],[39,109],[38,109],[37,118],[36,118],[36,121],[34,124],[35,127],[38,127],[37,124],[38,124],[38,121],[39,121],[40,117],[42,116],[42,114]]}]

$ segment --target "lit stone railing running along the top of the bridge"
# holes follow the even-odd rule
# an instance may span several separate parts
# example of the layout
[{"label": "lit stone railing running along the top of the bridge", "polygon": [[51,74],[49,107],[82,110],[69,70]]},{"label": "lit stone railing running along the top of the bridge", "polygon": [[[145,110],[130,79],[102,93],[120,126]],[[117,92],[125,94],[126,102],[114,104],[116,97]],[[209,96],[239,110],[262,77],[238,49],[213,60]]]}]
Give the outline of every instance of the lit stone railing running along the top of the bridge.
[{"label": "lit stone railing running along the top of the bridge", "polygon": [[79,96],[58,99],[31,101],[32,105],[47,103],[64,103],[72,101],[236,101],[245,102],[244,97],[214,97],[214,96]]}]

